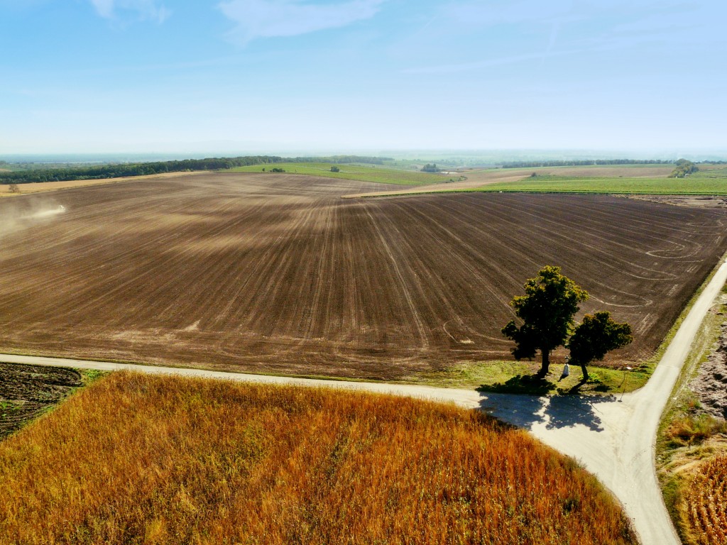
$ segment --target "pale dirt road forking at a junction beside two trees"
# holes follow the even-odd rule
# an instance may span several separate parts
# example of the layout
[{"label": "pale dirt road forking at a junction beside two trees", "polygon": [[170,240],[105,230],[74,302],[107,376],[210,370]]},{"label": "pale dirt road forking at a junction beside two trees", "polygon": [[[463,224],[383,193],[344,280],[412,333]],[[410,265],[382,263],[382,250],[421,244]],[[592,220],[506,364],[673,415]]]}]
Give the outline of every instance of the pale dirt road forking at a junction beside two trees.
[{"label": "pale dirt road forking at a junction beside two trees", "polygon": [[654,472],[656,427],[702,320],[726,282],[727,263],[723,263],[686,316],[646,387],[620,397],[529,397],[410,384],[298,379],[21,355],[0,355],[0,360],[103,371],[129,369],[149,374],[359,389],[478,408],[528,429],[547,445],[582,461],[585,468],[622,501],[644,545],[678,545],[680,541],[664,507]]}]

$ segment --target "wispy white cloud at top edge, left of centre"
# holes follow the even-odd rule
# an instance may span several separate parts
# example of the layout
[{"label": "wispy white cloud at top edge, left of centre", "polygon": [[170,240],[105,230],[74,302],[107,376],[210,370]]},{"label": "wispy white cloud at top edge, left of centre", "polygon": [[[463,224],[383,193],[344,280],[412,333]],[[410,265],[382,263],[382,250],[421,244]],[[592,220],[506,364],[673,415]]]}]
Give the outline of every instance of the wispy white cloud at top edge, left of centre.
[{"label": "wispy white cloud at top edge, left of centre", "polygon": [[384,1],[312,4],[300,0],[229,0],[219,7],[236,24],[230,31],[230,39],[247,44],[257,38],[299,36],[370,19]]}]

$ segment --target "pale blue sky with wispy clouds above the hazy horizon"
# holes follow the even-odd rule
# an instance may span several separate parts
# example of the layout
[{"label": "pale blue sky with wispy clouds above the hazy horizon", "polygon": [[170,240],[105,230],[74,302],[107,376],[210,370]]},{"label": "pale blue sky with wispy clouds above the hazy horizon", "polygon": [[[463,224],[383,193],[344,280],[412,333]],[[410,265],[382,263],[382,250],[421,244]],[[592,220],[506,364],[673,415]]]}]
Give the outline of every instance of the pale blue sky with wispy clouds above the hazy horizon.
[{"label": "pale blue sky with wispy clouds above the hazy horizon", "polygon": [[727,150],[723,0],[0,0],[0,155]]}]

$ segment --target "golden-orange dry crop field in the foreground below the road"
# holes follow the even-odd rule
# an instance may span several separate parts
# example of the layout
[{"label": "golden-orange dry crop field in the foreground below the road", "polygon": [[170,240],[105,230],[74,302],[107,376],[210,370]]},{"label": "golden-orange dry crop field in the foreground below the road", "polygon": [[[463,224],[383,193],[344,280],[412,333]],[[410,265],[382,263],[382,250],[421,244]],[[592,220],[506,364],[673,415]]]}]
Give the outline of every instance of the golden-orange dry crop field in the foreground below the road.
[{"label": "golden-orange dry crop field in the foreground below the road", "polygon": [[117,373],[0,443],[0,544],[632,544],[595,477],[475,411]]}]

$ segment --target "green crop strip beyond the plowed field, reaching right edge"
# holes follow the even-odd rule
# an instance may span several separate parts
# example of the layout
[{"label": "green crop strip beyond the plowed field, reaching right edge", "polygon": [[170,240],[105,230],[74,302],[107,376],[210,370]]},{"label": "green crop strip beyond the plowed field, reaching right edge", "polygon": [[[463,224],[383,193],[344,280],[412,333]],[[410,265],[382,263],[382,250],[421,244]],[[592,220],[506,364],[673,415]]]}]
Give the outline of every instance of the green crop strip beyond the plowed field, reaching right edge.
[{"label": "green crop strip beyond the plowed field, reaching right edge", "polygon": [[688,178],[537,176],[478,187],[477,191],[547,193],[645,193],[661,195],[727,195],[727,169],[697,172]]}]

